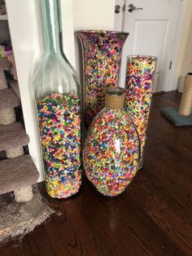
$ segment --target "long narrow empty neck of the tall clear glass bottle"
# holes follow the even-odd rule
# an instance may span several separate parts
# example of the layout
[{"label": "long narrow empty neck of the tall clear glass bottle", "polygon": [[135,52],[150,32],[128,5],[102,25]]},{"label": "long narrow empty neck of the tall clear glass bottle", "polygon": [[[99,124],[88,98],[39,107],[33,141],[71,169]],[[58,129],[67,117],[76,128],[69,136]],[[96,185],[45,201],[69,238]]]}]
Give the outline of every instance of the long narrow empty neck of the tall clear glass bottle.
[{"label": "long narrow empty neck of the tall clear glass bottle", "polygon": [[46,35],[46,52],[61,53],[59,41],[59,1],[41,0]]}]

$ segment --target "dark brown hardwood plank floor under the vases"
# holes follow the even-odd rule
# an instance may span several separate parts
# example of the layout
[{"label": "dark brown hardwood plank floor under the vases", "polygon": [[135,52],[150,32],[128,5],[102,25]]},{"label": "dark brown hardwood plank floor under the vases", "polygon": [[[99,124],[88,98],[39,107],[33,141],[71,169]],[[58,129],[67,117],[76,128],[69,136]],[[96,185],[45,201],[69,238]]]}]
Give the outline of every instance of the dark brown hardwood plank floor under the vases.
[{"label": "dark brown hardwood plank floor under the vases", "polygon": [[159,113],[179,101],[176,92],[154,97],[144,166],[124,194],[104,197],[84,180],[71,199],[49,199],[60,216],[0,255],[192,255],[192,127]]}]

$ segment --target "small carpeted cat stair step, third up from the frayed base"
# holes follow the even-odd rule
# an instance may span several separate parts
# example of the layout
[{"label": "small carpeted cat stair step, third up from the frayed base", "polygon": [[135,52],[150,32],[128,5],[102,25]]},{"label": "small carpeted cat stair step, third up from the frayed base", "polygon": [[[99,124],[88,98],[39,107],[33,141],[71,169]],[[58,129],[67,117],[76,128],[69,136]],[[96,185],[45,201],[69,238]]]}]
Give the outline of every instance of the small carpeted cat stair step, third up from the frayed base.
[{"label": "small carpeted cat stair step, third up from the frayed base", "polygon": [[20,99],[17,98],[13,90],[0,90],[0,109],[15,108],[20,106]]}]

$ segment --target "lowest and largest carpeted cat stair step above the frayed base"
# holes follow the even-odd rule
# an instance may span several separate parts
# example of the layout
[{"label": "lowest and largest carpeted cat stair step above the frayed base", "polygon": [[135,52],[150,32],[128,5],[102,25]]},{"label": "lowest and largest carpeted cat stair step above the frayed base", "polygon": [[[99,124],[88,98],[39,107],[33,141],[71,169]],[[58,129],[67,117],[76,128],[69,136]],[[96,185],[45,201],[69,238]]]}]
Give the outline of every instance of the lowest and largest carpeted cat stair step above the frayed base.
[{"label": "lowest and largest carpeted cat stair step above the frayed base", "polygon": [[0,161],[0,195],[37,183],[39,177],[29,155]]}]

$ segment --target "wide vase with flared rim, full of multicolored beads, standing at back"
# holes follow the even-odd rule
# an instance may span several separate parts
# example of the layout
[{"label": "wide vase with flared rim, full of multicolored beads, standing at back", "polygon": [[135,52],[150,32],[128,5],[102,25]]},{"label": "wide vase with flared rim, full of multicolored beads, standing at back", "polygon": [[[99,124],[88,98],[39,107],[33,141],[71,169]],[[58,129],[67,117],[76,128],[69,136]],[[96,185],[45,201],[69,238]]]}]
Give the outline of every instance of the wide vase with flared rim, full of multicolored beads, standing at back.
[{"label": "wide vase with flared rim, full of multicolored beads, standing at back", "polygon": [[78,31],[84,62],[85,125],[89,126],[104,107],[104,88],[118,86],[120,60],[129,33]]}]

